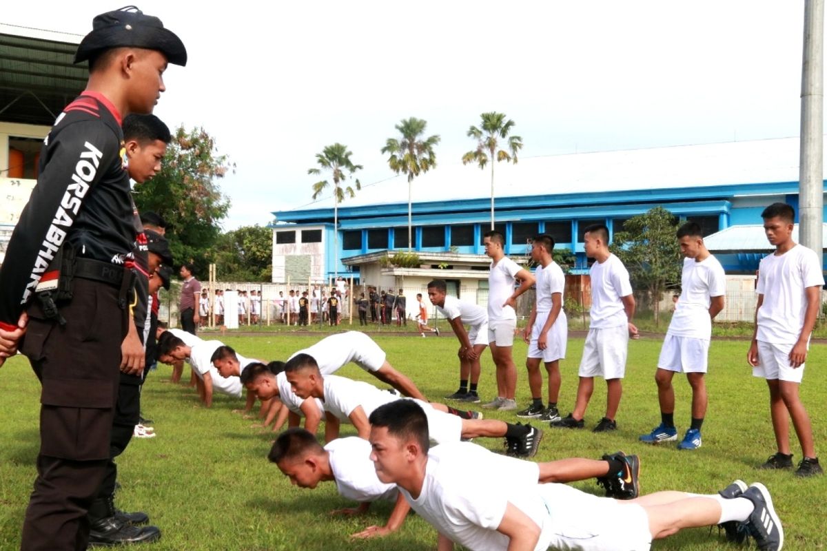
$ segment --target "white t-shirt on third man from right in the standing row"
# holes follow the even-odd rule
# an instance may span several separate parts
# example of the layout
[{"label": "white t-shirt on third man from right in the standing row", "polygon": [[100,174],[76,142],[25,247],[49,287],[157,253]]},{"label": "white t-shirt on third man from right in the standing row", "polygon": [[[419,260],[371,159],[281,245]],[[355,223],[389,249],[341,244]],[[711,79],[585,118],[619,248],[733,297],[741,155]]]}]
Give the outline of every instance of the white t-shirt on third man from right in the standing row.
[{"label": "white t-shirt on third man from right in the standing row", "polygon": [[629,319],[621,297],[632,294],[629,272],[614,254],[601,264],[595,262],[589,270],[591,278],[591,329],[626,325]]}]

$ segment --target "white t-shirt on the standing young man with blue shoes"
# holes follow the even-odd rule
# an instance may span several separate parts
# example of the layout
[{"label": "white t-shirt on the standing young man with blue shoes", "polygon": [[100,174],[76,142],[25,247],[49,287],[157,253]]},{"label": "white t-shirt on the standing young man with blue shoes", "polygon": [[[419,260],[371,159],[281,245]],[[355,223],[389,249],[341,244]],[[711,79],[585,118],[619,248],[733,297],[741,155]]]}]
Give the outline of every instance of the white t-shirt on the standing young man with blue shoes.
[{"label": "white t-shirt on the standing young man with blue shoes", "polygon": [[667,334],[710,340],[712,297],[723,297],[725,294],[724,267],[715,256],[710,254],[701,262],[696,262],[695,259],[684,259],[681,273],[681,297],[677,301]]}]

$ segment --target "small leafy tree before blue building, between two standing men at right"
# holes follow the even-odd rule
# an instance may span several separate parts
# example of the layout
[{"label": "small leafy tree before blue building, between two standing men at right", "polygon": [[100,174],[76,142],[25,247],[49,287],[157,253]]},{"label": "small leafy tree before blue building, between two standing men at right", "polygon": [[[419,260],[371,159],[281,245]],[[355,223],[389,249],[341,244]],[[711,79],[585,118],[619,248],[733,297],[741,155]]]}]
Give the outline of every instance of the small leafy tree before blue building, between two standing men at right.
[{"label": "small leafy tree before blue building, between two standing men at right", "polygon": [[678,220],[663,207],[654,207],[624,223],[614,233],[612,252],[629,270],[632,286],[645,288],[653,302],[655,323],[664,291],[681,282],[681,248],[675,232]]}]

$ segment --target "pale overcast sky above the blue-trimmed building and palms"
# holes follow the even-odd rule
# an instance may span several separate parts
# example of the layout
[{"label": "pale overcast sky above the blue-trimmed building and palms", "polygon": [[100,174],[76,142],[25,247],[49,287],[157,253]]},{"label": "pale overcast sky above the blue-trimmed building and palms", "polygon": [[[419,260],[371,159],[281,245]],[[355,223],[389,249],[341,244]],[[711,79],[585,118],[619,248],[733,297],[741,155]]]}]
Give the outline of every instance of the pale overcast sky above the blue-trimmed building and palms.
[{"label": "pale overcast sky above the blue-trimmed building and palms", "polygon": [[[84,35],[117,7],[4,2],[0,21]],[[189,52],[155,113],[203,126],[237,164],[221,182],[227,229],[311,202],[307,169],[337,141],[364,165],[363,184],[390,178],[380,148],[409,116],[442,136],[442,166],[474,148],[466,131],[487,111],[514,120],[523,157],[799,133],[803,0],[139,7]],[[437,198],[414,186],[414,201]]]}]

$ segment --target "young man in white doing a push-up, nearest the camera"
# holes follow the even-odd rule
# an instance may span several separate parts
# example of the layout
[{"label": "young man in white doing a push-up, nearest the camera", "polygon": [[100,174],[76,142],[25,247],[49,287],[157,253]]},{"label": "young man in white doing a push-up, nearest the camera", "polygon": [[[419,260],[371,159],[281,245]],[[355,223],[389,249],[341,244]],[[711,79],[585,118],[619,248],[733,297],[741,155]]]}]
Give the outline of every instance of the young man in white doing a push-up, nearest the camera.
[{"label": "young man in white doing a push-up, nearest the camera", "polygon": [[[407,403],[406,403],[407,402]],[[656,492],[631,501],[565,484],[538,484],[536,468],[474,444],[429,446],[428,419],[410,401],[370,416],[370,459],[437,529],[437,549],[648,551],[684,528],[746,523],[759,549],[782,549],[784,533],[767,488],[735,481],[719,494]],[[490,476],[497,473],[497,476]],[[729,530],[727,534],[729,535]]]}]

